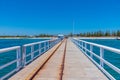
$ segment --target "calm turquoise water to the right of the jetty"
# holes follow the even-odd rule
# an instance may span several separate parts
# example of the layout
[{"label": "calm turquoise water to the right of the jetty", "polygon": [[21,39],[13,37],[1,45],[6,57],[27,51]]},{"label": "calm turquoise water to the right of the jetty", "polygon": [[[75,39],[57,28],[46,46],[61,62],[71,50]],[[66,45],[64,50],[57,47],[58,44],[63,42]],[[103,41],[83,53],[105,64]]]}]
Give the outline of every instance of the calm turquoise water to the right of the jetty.
[{"label": "calm turquoise water to the right of the jetty", "polygon": [[[116,39],[85,39],[85,40],[88,42],[93,42],[93,43],[102,44],[102,45],[106,45],[109,47],[120,49],[120,40],[116,40]],[[89,45],[88,45],[88,49],[89,49]],[[100,49],[98,47],[94,46],[93,52],[95,52],[97,55],[100,55]],[[89,53],[87,53],[87,54],[90,55]],[[97,63],[100,63],[100,61],[95,56],[93,58],[94,58],[94,60],[97,61]],[[120,54],[104,50],[104,58],[108,62],[114,64],[116,67],[118,67],[120,69]],[[107,65],[104,65],[104,68],[111,75],[113,75],[117,80],[120,80],[120,74],[113,71]]]}]

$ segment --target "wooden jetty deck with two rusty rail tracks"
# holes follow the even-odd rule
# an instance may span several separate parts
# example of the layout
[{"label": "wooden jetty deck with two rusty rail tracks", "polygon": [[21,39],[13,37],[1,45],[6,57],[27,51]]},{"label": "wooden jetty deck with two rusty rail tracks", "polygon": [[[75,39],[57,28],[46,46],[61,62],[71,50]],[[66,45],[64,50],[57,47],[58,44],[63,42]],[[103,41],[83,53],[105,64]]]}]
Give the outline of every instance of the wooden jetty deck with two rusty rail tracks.
[{"label": "wooden jetty deck with two rusty rail tracks", "polygon": [[9,80],[108,80],[73,44],[64,40]]}]

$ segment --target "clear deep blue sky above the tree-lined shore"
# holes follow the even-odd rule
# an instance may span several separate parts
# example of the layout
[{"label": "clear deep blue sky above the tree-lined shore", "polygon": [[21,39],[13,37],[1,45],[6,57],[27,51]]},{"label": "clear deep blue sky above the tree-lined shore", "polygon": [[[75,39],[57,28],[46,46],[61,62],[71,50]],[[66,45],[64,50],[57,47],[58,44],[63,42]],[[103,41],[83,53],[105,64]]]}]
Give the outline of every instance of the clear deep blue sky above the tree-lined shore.
[{"label": "clear deep blue sky above the tree-lined shore", "polygon": [[120,0],[0,0],[0,35],[120,29]]}]

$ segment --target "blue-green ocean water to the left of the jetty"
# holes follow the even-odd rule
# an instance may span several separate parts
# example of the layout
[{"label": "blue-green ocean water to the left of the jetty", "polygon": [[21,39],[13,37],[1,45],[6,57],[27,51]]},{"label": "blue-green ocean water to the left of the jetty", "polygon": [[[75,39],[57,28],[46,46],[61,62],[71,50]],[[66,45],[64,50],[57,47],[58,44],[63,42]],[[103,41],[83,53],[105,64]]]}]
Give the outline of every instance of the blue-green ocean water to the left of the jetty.
[{"label": "blue-green ocean water to the left of the jetty", "polygon": [[[44,40],[48,40],[48,39],[0,39],[0,49],[13,47],[13,46],[22,46],[24,44],[39,42],[39,41],[44,41]],[[43,47],[43,45],[42,45],[42,47]],[[27,48],[28,50],[26,51],[27,52],[26,54],[28,54],[31,51],[30,47],[28,47],[28,48]],[[34,46],[34,50],[36,50],[36,49],[38,49],[38,45]],[[38,54],[38,52],[35,53],[35,55],[37,55],[37,54]],[[16,50],[5,52],[5,53],[0,53],[0,66],[4,65],[10,61],[13,61],[15,59],[16,59]],[[29,60],[29,59],[30,59],[30,56],[27,57],[27,60]],[[2,76],[6,75],[8,72],[14,70],[15,68],[16,68],[16,63],[0,70],[0,78]]]}]

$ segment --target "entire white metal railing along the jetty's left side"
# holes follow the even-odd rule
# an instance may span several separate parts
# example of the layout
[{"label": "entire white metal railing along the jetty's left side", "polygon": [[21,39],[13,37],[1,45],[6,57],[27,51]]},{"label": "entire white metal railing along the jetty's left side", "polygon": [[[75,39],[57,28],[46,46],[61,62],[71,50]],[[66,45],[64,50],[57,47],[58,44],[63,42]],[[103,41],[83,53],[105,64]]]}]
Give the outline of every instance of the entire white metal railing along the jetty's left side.
[{"label": "entire white metal railing along the jetty's left side", "polygon": [[[14,70],[12,70],[11,72],[5,74],[4,76],[0,77],[0,80],[4,80],[4,79],[8,78],[9,76],[11,76],[13,73],[19,71],[25,65],[27,65],[31,61],[35,60],[38,56],[40,56],[41,54],[43,54],[44,52],[46,52],[47,50],[52,48],[54,45],[56,45],[60,41],[61,41],[61,39],[56,38],[56,39],[52,39],[52,40],[45,40],[45,41],[25,44],[22,47],[15,46],[15,47],[10,47],[10,48],[0,49],[0,54],[4,54],[5,52],[10,52],[10,51],[16,50],[16,59],[0,66],[0,70],[4,69],[14,63],[16,63],[16,68]],[[36,45],[38,45],[37,49],[35,49]],[[31,49],[30,53],[28,53],[28,54],[26,52],[27,47],[30,47],[30,49]],[[35,56],[36,52],[38,52],[38,54]],[[29,56],[31,57],[30,60],[26,60],[26,58]]]}]

